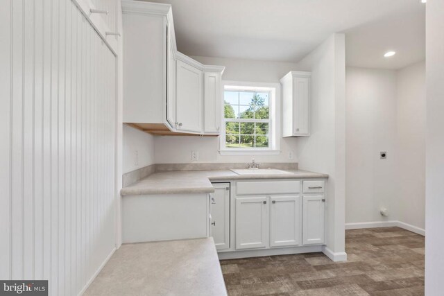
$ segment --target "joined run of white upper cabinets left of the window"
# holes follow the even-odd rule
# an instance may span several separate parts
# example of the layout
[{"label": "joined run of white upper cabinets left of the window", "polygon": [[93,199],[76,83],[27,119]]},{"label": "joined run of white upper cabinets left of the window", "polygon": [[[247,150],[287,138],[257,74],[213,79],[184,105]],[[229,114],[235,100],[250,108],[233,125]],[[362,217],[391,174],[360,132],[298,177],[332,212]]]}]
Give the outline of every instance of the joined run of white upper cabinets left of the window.
[{"label": "joined run of white upper cabinets left of the window", "polygon": [[221,76],[176,48],[171,5],[122,1],[123,122],[151,134],[218,135]]}]

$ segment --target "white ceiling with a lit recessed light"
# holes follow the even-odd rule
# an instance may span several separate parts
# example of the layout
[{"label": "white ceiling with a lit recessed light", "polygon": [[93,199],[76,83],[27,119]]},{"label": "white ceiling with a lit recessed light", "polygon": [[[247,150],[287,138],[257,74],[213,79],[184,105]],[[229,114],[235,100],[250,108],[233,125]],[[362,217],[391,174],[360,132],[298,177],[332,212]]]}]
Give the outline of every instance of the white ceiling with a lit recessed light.
[{"label": "white ceiling with a lit recessed light", "polygon": [[[420,0],[151,0],[171,3],[187,55],[298,62],[346,33],[348,66],[399,69],[425,59]],[[397,54],[390,59],[382,55]]]}]

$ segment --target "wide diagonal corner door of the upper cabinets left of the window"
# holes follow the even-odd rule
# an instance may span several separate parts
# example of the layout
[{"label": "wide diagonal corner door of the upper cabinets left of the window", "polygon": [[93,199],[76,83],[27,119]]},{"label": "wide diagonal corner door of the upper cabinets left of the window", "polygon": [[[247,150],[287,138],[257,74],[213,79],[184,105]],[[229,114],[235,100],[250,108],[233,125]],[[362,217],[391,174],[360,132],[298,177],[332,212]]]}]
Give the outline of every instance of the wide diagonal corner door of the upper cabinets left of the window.
[{"label": "wide diagonal corner door of the upper cabinets left of the window", "polygon": [[176,129],[202,132],[202,71],[176,62]]}]

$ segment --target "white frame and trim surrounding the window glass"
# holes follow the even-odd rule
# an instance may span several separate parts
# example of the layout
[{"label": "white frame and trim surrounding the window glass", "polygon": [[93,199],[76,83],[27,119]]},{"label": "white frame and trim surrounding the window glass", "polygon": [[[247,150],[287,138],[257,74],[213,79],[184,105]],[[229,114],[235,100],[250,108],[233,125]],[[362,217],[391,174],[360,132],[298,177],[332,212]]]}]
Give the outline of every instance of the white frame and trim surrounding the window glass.
[{"label": "white frame and trim surrounding the window glass", "polygon": [[270,125],[268,127],[268,142],[270,146],[268,148],[226,148],[225,147],[225,114],[224,111],[224,99],[222,102],[222,130],[219,141],[219,153],[221,155],[278,155],[280,154],[280,121],[277,119],[278,110],[280,110],[280,83],[266,83],[266,82],[242,82],[242,81],[223,81],[223,98],[225,90],[238,90],[238,91],[257,91],[257,92],[269,92],[269,110],[270,110]]}]

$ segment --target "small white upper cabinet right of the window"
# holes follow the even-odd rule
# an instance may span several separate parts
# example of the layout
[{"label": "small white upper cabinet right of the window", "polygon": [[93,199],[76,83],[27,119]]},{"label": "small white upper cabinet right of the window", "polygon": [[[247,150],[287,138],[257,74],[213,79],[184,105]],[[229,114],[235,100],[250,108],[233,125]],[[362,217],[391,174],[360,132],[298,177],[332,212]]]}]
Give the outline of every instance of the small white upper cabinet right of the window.
[{"label": "small white upper cabinet right of the window", "polygon": [[282,137],[310,135],[311,73],[291,71],[282,84]]}]

